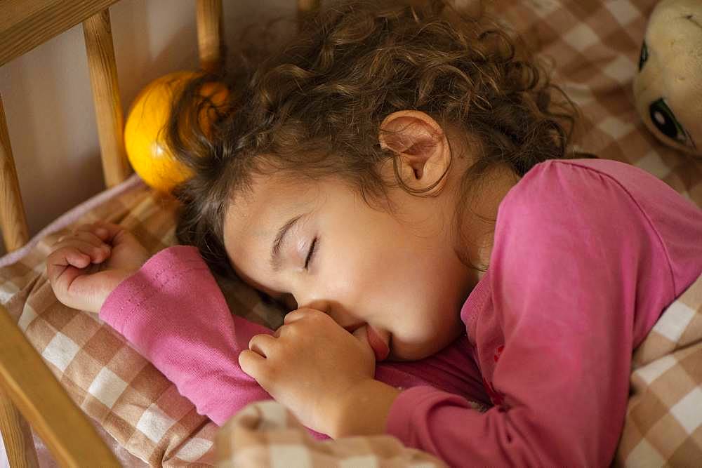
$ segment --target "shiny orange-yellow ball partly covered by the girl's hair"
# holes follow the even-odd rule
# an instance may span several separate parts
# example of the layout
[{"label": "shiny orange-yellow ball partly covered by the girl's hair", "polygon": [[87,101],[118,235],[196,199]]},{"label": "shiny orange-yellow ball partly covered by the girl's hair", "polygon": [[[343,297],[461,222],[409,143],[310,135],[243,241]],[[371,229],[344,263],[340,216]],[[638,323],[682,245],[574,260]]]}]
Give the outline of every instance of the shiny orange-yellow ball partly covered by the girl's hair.
[{"label": "shiny orange-yellow ball partly covered by the girl's hair", "polygon": [[[129,163],[147,185],[161,192],[171,192],[191,175],[190,169],[174,158],[166,146],[164,127],[176,92],[195,76],[195,72],[175,72],[147,84],[134,99],[124,126],[124,147]],[[218,83],[207,83],[202,94],[220,105],[226,90]],[[204,128],[208,126],[206,121],[201,124]]]}]

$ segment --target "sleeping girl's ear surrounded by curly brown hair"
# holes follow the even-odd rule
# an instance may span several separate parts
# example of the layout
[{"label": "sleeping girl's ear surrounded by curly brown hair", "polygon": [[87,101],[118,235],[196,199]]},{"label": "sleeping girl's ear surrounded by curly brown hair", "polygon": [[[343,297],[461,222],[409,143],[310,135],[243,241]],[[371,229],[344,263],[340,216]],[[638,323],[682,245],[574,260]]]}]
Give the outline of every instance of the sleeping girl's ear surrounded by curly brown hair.
[{"label": "sleeping girl's ear surrounded by curly brown hair", "polygon": [[[437,194],[446,184],[451,148],[441,126],[424,112],[393,112],[380,124],[378,142],[395,153],[402,182],[425,194]],[[395,170],[388,165],[395,180]]]}]

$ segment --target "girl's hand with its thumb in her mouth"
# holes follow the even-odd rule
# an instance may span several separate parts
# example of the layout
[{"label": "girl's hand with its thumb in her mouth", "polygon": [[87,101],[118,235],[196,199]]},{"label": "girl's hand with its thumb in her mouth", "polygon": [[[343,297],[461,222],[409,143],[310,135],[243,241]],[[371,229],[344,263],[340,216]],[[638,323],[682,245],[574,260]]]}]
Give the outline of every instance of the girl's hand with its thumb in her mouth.
[{"label": "girl's hand with its thumb in her mouth", "polygon": [[254,336],[239,354],[245,373],[305,426],[329,435],[343,396],[373,380],[375,364],[365,326],[351,334],[316,309],[287,314],[275,335]]}]

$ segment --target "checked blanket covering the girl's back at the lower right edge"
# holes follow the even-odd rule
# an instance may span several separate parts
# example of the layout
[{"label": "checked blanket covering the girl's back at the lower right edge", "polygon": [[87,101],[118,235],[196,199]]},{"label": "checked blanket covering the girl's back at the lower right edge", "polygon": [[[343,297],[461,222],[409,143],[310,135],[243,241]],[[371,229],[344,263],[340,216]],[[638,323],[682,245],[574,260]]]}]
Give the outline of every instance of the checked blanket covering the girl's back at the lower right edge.
[{"label": "checked blanket covering the girl's back at the lower right edge", "polygon": [[702,276],[665,310],[635,350],[615,462],[702,466]]}]

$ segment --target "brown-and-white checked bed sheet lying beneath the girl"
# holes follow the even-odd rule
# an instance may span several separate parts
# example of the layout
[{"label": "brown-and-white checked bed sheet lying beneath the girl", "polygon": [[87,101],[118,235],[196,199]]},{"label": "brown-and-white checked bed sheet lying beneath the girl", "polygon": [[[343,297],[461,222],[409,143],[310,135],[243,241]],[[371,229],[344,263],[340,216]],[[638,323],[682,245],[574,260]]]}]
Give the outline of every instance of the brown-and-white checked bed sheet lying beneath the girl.
[{"label": "brown-and-white checked bed sheet lying beneath the girl", "polygon": [[[555,82],[583,112],[581,149],[643,168],[702,206],[702,161],[661,145],[633,105],[631,83],[656,0],[488,4],[555,67]],[[176,201],[130,183],[67,213],[21,254],[1,259],[0,302],[72,398],[120,447],[157,466],[211,464],[214,424],[98,317],[56,302],[42,275],[53,241],[83,222],[124,225],[152,253],[175,242]],[[279,325],[280,311],[253,290],[218,280],[232,311],[271,328]]]}]

